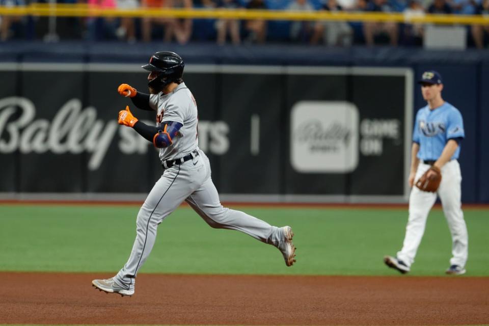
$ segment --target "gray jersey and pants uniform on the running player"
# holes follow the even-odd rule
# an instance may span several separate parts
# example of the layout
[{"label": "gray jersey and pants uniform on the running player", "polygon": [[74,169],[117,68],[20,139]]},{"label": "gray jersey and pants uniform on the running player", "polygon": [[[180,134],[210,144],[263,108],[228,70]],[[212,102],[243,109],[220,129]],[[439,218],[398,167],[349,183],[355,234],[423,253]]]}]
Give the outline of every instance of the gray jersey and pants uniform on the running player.
[{"label": "gray jersey and pants uniform on the running player", "polygon": [[260,241],[273,244],[282,252],[287,265],[292,264],[295,249],[290,227],[278,228],[241,211],[221,205],[219,194],[212,183],[209,160],[198,147],[197,104],[185,84],[173,92],[150,96],[150,106],[157,110],[157,124],[164,121],[182,123],[173,144],[160,150],[162,161],[180,159],[193,152],[192,159],[165,169],[155,183],[137,218],[137,235],[131,254],[114,282],[134,289],[134,279],[148,258],[156,238],[157,226],[186,201],[213,228],[244,232]]}]

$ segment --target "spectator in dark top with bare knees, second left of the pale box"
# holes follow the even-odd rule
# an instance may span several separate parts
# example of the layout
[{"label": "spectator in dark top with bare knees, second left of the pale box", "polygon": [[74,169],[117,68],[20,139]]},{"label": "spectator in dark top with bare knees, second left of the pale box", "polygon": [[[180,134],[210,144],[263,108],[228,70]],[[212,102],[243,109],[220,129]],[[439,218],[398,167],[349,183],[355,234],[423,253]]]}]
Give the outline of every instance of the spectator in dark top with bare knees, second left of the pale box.
[{"label": "spectator in dark top with bare knees, second left of the pale box", "polygon": [[[392,7],[387,0],[373,0],[367,4],[366,11],[392,12]],[[397,45],[398,25],[395,22],[365,22],[363,24],[363,34],[367,45],[374,44],[374,37],[379,34],[387,34],[391,45]]]}]

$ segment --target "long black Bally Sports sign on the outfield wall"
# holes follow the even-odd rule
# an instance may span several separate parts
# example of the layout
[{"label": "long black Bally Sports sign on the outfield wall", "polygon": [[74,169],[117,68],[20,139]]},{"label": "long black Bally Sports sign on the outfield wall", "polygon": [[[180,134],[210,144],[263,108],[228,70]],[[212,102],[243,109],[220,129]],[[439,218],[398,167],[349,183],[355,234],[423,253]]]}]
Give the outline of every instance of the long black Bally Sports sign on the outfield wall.
[{"label": "long black Bally Sports sign on the outfield wall", "polygon": [[[133,108],[117,87],[147,88],[139,65],[5,63],[0,71],[0,197],[146,194],[161,176],[152,144],[117,124],[119,110]],[[405,200],[409,68],[188,65],[184,80],[199,108],[199,147],[227,200]],[[133,113],[155,123],[154,112]],[[396,182],[376,182],[380,170]]]}]

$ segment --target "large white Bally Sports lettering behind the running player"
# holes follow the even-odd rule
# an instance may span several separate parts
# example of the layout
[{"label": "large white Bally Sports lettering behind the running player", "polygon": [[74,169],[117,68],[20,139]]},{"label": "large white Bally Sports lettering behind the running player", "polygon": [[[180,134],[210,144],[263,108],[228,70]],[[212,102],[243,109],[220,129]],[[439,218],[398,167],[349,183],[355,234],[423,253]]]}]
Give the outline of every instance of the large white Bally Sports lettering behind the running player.
[{"label": "large white Bally Sports lettering behind the running player", "polygon": [[[30,99],[0,98],[0,161],[2,154],[16,151],[74,155],[85,152],[89,154],[88,169],[94,171],[100,168],[111,146],[117,146],[125,155],[144,154],[153,148],[132,128],[119,126],[116,111],[113,117],[108,121],[100,119],[94,106],[84,107],[80,99],[72,98],[52,120],[42,119],[36,117],[36,106]],[[199,121],[199,147],[204,152],[225,154],[229,149],[228,132],[224,121]]]}]

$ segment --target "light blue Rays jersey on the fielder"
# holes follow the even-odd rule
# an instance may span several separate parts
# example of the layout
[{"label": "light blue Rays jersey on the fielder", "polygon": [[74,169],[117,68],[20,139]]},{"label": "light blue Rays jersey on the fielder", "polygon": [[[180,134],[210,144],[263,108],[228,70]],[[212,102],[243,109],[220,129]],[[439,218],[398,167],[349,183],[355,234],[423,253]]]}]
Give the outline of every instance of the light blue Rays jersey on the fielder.
[{"label": "light blue Rays jersey on the fielder", "polygon": [[[437,160],[450,139],[464,138],[464,122],[457,108],[448,102],[430,110],[426,105],[418,111],[413,131],[413,142],[418,143],[417,157],[422,160]],[[451,159],[457,159],[460,146]]]}]

